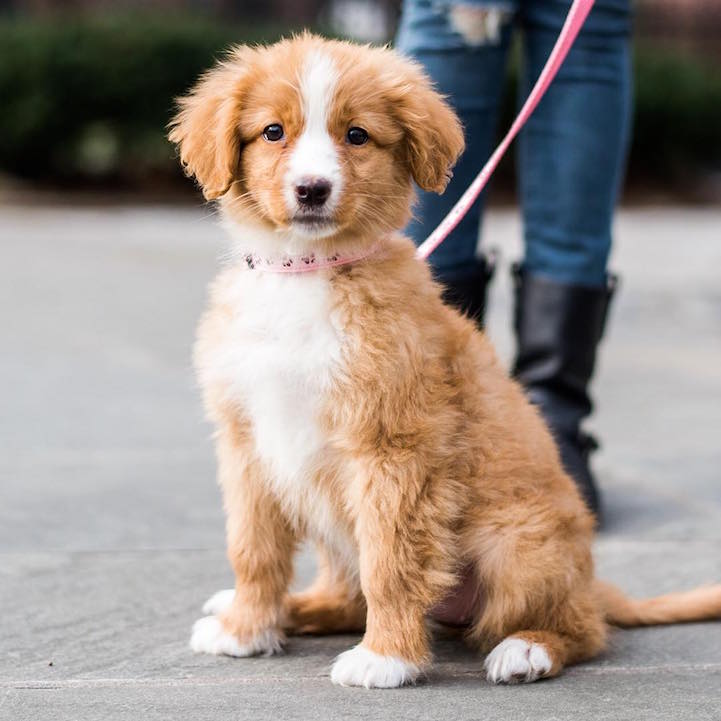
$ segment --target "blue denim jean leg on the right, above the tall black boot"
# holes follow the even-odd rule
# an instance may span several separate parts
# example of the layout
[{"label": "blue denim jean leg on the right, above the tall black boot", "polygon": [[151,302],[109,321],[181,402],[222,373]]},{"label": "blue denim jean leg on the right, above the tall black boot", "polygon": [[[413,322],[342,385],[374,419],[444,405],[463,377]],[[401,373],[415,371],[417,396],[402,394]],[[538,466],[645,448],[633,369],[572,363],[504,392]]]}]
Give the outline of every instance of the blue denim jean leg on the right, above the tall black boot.
[{"label": "blue denim jean leg on the right, above the tall black boot", "polygon": [[[524,0],[525,98],[548,58],[569,0]],[[606,282],[611,221],[631,110],[629,0],[597,0],[519,139],[524,268],[559,283]]]}]

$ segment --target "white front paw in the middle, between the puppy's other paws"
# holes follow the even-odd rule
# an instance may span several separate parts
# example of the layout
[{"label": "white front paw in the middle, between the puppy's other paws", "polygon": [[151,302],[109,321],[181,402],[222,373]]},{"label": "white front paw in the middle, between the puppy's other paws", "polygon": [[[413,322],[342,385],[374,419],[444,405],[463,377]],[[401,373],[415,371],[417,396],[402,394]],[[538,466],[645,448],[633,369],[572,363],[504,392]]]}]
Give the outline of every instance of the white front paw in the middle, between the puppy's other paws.
[{"label": "white front paw in the middle, between the puppy's other paws", "polygon": [[344,651],[333,664],[330,680],[339,686],[397,688],[414,683],[420,669],[396,656],[381,656],[362,645]]}]

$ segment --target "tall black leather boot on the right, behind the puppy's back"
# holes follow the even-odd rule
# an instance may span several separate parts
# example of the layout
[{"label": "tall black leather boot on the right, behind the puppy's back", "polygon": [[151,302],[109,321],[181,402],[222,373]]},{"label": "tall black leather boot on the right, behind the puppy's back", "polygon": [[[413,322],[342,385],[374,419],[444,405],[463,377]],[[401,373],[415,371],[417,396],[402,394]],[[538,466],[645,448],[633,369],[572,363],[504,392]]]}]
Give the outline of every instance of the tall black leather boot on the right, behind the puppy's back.
[{"label": "tall black leather boot on the right, behind the puppy's back", "polygon": [[518,342],[513,375],[525,386],[553,433],[561,460],[600,519],[600,497],[589,458],[598,444],[581,430],[593,408],[588,385],[616,287],[565,285],[514,267]]}]

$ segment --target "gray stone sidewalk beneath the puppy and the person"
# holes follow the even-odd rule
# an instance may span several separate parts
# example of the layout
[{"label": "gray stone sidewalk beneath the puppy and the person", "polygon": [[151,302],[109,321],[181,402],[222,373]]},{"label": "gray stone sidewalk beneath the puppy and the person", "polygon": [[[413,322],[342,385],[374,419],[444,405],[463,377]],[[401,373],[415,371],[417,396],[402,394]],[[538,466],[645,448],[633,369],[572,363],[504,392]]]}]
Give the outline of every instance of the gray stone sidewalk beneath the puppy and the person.
[{"label": "gray stone sidewalk beneath the puppy and the person", "polygon": [[[493,212],[488,244],[518,253]],[[207,210],[0,207],[0,719],[721,719],[721,622],[614,633],[601,658],[493,687],[439,640],[422,685],[331,686],[351,637],[194,656],[230,585],[190,369],[223,236]],[[721,580],[721,211],[621,214],[593,428],[599,574],[656,594]],[[489,332],[511,351],[501,272]],[[312,574],[299,559],[298,581]]]}]

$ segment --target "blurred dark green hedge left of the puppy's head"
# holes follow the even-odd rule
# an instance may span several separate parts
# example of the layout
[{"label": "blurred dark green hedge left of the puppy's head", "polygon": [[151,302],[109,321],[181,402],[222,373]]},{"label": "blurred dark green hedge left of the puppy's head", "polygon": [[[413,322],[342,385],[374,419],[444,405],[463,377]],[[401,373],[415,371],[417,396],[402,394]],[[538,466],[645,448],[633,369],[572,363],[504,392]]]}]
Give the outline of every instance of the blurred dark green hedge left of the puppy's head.
[{"label": "blurred dark green hedge left of the puppy's head", "polygon": [[233,42],[204,17],[0,20],[0,170],[50,182],[178,175],[173,99]]}]

